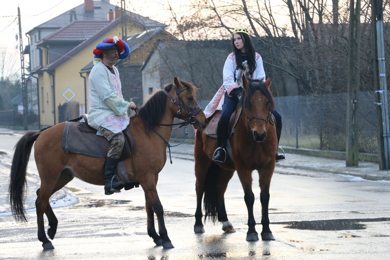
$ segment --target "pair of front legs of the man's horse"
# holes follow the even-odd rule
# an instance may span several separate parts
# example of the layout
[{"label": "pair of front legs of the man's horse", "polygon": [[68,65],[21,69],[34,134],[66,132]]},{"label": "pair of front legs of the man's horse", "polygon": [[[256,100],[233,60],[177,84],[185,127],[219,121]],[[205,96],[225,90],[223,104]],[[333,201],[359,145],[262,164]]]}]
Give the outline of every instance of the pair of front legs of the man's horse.
[{"label": "pair of front legs of the man's horse", "polygon": [[[164,209],[157,193],[155,184],[145,187],[142,186],[142,188],[145,192],[148,235],[153,239],[155,244],[162,245],[164,248],[173,248],[172,242],[168,237],[168,232],[165,227]],[[160,236],[157,235],[154,228],[153,212],[157,216]]]}]

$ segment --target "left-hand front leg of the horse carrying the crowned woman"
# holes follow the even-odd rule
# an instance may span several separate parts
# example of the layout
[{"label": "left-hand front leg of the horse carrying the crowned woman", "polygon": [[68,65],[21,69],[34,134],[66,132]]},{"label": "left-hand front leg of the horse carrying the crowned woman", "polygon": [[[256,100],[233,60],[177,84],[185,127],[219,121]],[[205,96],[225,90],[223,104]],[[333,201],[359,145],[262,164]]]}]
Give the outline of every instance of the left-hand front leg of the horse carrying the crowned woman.
[{"label": "left-hand front leg of the horse carrying the crowned woman", "polygon": [[252,172],[250,170],[240,170],[238,175],[241,185],[244,189],[244,200],[248,211],[248,232],[246,233],[246,241],[257,241],[258,233],[256,231],[256,221],[253,215],[254,194],[252,191]]}]

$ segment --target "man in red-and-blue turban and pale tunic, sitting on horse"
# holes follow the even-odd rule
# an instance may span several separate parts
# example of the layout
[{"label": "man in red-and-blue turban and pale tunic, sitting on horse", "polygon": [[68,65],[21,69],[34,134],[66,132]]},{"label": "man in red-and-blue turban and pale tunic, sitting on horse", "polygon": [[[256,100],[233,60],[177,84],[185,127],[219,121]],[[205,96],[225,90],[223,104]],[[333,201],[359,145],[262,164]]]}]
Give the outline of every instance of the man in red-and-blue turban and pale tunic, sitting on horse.
[{"label": "man in red-and-blue turban and pale tunic, sitting on horse", "polygon": [[114,66],[119,59],[130,54],[126,42],[114,38],[106,38],[93,50],[95,59],[89,74],[89,109],[88,124],[97,130],[97,135],[104,136],[110,142],[110,149],[105,162],[105,194],[120,192],[123,181],[116,178],[115,172],[124,146],[122,131],[130,123],[127,109],[134,110],[134,102],[123,99],[118,69]]}]

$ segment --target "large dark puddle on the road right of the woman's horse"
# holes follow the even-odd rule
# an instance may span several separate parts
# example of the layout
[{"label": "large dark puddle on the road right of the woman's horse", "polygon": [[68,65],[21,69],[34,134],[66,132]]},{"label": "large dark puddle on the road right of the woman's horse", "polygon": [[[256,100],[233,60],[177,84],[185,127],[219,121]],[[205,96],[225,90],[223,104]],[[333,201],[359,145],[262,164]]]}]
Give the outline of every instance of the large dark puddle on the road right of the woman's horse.
[{"label": "large dark puddle on the road right of the woman's horse", "polygon": [[273,224],[287,225],[285,228],[302,230],[358,230],[366,229],[365,222],[390,221],[390,218],[375,219],[330,219],[330,220],[310,220],[310,221],[290,221],[276,222]]}]

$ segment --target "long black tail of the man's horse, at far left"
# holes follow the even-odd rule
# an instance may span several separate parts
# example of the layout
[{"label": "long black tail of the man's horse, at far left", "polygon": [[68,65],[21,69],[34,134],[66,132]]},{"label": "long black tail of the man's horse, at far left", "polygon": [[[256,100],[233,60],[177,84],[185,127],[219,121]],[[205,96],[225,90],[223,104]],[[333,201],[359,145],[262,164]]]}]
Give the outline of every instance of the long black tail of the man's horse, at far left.
[{"label": "long black tail of the man's horse, at far left", "polygon": [[38,131],[27,132],[15,145],[8,191],[10,193],[12,215],[14,215],[16,221],[27,221],[23,205],[25,184],[27,183],[25,177],[33,144],[40,133]]}]

